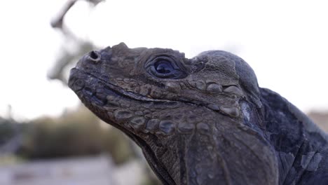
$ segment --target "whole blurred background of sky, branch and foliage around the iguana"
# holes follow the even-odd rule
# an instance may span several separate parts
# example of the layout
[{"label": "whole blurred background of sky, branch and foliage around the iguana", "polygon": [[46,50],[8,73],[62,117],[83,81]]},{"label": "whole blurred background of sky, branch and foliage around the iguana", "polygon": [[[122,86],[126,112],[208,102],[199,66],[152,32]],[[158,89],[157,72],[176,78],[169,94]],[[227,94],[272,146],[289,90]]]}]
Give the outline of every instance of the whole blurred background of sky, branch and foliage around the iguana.
[{"label": "whole blurred background of sky, branch and foliage around the iguana", "polygon": [[67,88],[90,50],[227,50],[328,131],[324,1],[0,2],[0,184],[159,184],[138,147]]}]

